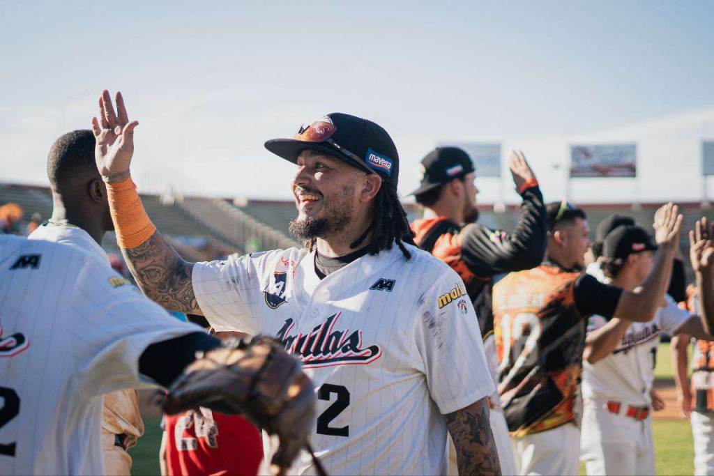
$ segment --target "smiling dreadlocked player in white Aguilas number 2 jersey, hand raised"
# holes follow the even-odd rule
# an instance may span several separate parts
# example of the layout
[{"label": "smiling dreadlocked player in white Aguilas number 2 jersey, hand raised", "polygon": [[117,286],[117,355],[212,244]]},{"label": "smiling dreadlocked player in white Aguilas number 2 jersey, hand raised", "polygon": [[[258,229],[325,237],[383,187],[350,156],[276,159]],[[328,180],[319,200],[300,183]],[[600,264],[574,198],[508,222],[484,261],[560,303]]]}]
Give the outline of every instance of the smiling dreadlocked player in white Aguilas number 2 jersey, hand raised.
[{"label": "smiling dreadlocked player in white Aguilas number 2 jersey, hand raised", "polygon": [[[97,163],[137,282],[216,330],[275,335],[298,355],[316,383],[311,442],[329,473],[443,474],[448,430],[462,472],[500,474],[473,306],[448,265],[409,244],[383,128],[333,113],[266,143],[298,166],[291,231],[306,248],[185,263],[141,213],[129,174],[136,122],[116,101],[114,113],[104,91],[93,122]],[[314,471],[307,457],[291,468]]]}]

